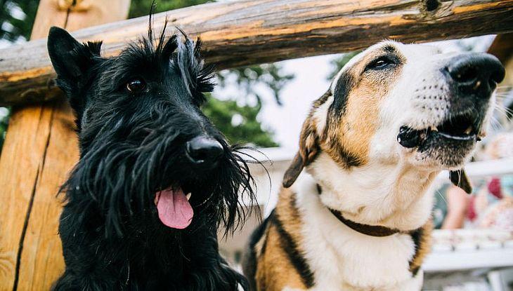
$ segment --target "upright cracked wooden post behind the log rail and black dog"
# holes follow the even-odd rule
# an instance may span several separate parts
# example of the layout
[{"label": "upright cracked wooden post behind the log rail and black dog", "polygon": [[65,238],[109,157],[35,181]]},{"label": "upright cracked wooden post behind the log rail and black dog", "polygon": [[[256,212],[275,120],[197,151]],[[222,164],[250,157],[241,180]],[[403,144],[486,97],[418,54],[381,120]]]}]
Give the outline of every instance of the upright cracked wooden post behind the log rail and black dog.
[{"label": "upright cracked wooden post behind the log rail and black dog", "polygon": [[[41,0],[31,39],[53,25],[75,30],[126,19],[129,5]],[[77,161],[77,137],[63,94],[48,94],[58,94],[56,102],[13,109],[0,158],[0,290],[48,290],[63,271],[56,194]]]}]

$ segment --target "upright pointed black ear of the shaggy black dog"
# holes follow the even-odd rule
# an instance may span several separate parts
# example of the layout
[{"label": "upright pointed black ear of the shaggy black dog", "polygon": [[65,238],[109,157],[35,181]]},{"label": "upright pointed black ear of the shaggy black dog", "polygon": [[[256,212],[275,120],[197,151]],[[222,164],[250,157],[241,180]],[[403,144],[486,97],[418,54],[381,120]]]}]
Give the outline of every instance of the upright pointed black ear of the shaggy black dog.
[{"label": "upright pointed black ear of the shaggy black dog", "polygon": [[79,43],[65,29],[51,27],[48,32],[48,55],[56,70],[58,86],[70,93],[79,78],[100,56],[101,42]]}]

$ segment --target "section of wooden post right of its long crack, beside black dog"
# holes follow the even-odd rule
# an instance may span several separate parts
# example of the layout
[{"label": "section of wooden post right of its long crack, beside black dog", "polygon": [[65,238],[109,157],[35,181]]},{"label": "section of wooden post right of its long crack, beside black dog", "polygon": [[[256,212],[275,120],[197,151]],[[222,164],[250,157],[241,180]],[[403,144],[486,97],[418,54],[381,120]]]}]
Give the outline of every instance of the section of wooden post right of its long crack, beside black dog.
[{"label": "section of wooden post right of its long crack, beside black dog", "polygon": [[64,269],[58,237],[62,198],[56,194],[78,159],[77,137],[67,102],[53,102],[44,110],[52,112],[50,132],[34,181],[33,204],[18,267],[18,290],[48,290]]}]

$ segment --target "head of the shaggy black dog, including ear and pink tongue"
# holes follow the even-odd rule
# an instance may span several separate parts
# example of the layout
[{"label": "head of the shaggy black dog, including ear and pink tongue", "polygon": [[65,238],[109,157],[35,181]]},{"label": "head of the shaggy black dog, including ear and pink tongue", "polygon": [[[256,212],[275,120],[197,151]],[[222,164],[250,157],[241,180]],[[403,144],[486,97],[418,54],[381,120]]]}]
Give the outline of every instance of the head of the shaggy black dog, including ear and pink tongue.
[{"label": "head of the shaggy black dog, including ear and pink tongue", "polygon": [[98,203],[106,231],[118,234],[134,217],[172,229],[214,219],[229,229],[241,214],[240,188],[253,196],[252,178],[200,111],[213,89],[211,71],[186,36],[163,32],[155,42],[150,30],[105,58],[101,43],[51,29],[48,53],[76,114],[81,149],[67,199]]}]

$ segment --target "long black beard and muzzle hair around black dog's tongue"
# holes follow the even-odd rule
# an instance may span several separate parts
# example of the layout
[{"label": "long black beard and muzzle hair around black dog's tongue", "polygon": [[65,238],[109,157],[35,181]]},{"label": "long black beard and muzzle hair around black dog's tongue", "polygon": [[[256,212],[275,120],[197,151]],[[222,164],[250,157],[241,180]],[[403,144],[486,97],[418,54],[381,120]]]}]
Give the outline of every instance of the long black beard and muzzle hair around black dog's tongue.
[{"label": "long black beard and muzzle hair around black dog's tongue", "polygon": [[177,118],[176,114],[167,116],[168,106],[166,102],[152,106],[152,121],[148,116],[123,116],[103,109],[104,117],[112,114],[108,122],[104,119],[95,124],[90,119],[82,128],[81,158],[63,189],[68,203],[84,209],[80,220],[91,208],[103,214],[107,237],[122,236],[134,221],[155,229],[167,227],[157,218],[153,201],[157,191],[176,185],[193,194],[190,204],[195,210],[195,223],[189,230],[204,225],[233,230],[247,214],[240,205],[239,193],[247,195],[249,201],[255,200],[254,181],[238,154],[240,148],[229,147],[219,133],[216,140],[225,151],[217,167],[204,172],[190,167],[183,149],[190,133],[185,130],[197,124],[186,124],[188,119]]}]

